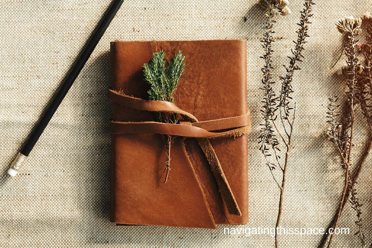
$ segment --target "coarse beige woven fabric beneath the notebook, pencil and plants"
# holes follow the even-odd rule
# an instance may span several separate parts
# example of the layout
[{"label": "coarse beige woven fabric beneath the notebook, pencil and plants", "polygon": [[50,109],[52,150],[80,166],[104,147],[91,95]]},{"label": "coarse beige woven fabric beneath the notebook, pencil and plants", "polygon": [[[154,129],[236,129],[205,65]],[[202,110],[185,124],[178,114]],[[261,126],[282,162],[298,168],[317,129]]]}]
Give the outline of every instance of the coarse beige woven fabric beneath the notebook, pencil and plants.
[{"label": "coarse beige woven fabric beneath the notebook, pencil and plants", "polygon": [[[296,71],[294,149],[282,226],[326,227],[339,201],[342,170],[325,129],[325,104],[343,86],[331,69],[340,54],[334,23],[372,10],[367,0],[317,0],[305,63]],[[125,1],[33,149],[21,173],[6,170],[61,79],[76,59],[110,0],[0,1],[0,247],[273,247],[268,235],[227,235],[218,230],[115,226],[109,222],[109,42],[114,39],[225,39],[248,41],[250,223],[275,225],[279,191],[257,150],[261,91],[263,11],[254,0]],[[296,38],[301,0],[278,18],[276,74],[284,73]],[[244,22],[244,16],[247,17]],[[228,49],[228,48],[227,48]],[[341,62],[337,65],[339,67]],[[365,133],[358,129],[359,133]],[[364,140],[357,136],[356,154]],[[360,152],[359,152],[360,153]],[[372,156],[359,180],[365,233],[372,242]],[[355,214],[346,206],[333,247],[356,247]],[[321,236],[282,235],[281,247],[317,247]]]}]

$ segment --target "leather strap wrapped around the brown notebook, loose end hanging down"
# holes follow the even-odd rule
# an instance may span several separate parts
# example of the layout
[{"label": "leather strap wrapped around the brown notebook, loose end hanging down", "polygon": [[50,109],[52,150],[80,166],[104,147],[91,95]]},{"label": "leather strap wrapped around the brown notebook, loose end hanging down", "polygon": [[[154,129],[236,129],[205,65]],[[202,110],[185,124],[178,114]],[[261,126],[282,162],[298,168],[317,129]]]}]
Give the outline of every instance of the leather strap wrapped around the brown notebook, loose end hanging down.
[{"label": "leather strap wrapped around the brown notebook, loose end hanging down", "polygon": [[[241,215],[234,194],[222,171],[221,164],[214,152],[208,138],[225,136],[241,136],[250,132],[250,112],[247,114],[216,120],[206,120],[199,122],[192,114],[179,109],[170,102],[144,100],[128,96],[120,91],[109,89],[108,98],[115,103],[131,107],[133,109],[150,112],[177,113],[183,120],[179,124],[161,122],[116,122],[110,121],[109,131],[115,134],[124,133],[159,133],[163,135],[183,136],[186,138],[197,138],[199,145],[204,152],[212,172],[216,178],[219,191],[226,203],[228,212],[234,215]],[[232,129],[224,131],[226,129]],[[216,132],[211,132],[216,131]]]}]

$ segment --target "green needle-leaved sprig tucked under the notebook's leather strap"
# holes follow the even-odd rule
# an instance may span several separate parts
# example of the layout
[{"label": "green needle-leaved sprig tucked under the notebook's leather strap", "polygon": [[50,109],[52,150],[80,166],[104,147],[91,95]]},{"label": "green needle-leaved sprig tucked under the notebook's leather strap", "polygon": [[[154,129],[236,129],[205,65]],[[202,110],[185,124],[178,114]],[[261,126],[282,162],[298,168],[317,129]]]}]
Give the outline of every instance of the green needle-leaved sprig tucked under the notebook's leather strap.
[{"label": "green needle-leaved sprig tucked under the notebook's leather strap", "polygon": [[[165,52],[161,50],[153,53],[153,57],[143,65],[145,80],[151,86],[147,91],[150,100],[174,102],[173,94],[185,69],[184,60],[182,52],[178,51],[166,67]],[[177,124],[179,121],[177,114],[158,112],[155,115],[158,122]],[[162,138],[167,147],[167,173],[164,179],[164,183],[166,183],[170,171],[170,149],[175,136],[162,135]]]}]

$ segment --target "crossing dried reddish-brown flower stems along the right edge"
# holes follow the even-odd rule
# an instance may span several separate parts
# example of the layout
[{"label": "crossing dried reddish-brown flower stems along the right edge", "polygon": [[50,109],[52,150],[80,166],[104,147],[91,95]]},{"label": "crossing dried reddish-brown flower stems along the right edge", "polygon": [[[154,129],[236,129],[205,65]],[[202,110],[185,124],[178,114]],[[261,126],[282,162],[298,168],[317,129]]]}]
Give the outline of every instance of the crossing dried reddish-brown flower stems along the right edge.
[{"label": "crossing dried reddish-brown flower stems along the right edge", "polygon": [[[353,149],[353,138],[354,138],[354,127],[355,127],[355,106],[359,104],[361,109],[368,120],[368,104],[366,101],[368,98],[366,97],[370,93],[371,89],[371,80],[369,74],[371,73],[369,70],[369,63],[366,62],[366,71],[361,73],[361,65],[359,64],[357,54],[360,49],[357,46],[357,36],[361,33],[361,24],[362,20],[360,18],[354,18],[352,16],[344,17],[337,22],[337,28],[341,33],[343,33],[346,37],[344,39],[344,52],[347,57],[347,80],[346,85],[348,90],[346,91],[347,95],[347,108],[346,114],[343,118],[343,123],[338,123],[336,121],[336,117],[339,115],[337,109],[339,105],[336,104],[337,97],[330,97],[328,99],[328,112],[327,112],[327,123],[330,125],[330,128],[327,130],[327,135],[330,141],[334,143],[339,152],[339,156],[341,157],[341,165],[344,168],[344,187],[341,194],[340,204],[337,210],[337,214],[331,225],[328,227],[329,229],[332,227],[333,229],[337,228],[339,218],[341,212],[346,204],[349,194],[352,194],[350,198],[350,203],[352,203],[352,208],[356,211],[357,221],[355,222],[358,228],[356,235],[358,235],[360,239],[361,247],[363,248],[365,245],[365,236],[363,234],[363,225],[362,225],[362,204],[359,203],[359,199],[356,197],[356,178],[359,176],[362,165],[365,162],[366,156],[369,153],[369,149],[371,148],[371,142],[369,142],[367,152],[363,154],[362,160],[360,161],[359,165],[357,166],[356,173],[351,177],[350,176],[350,164],[352,158],[352,149]],[[367,37],[368,39],[368,37]],[[372,39],[370,39],[372,41]],[[367,44],[366,50],[369,50],[371,46]],[[359,51],[358,51],[359,49]],[[369,58],[368,52],[366,52],[366,60]],[[362,77],[360,78],[360,75]],[[370,126],[370,125],[369,125]],[[340,128],[341,127],[341,128]],[[349,134],[350,131],[350,135]],[[321,247],[325,244],[328,235],[324,235],[321,243]],[[330,239],[328,241],[327,247],[329,248],[332,244],[334,238],[334,233],[331,233]]]}]

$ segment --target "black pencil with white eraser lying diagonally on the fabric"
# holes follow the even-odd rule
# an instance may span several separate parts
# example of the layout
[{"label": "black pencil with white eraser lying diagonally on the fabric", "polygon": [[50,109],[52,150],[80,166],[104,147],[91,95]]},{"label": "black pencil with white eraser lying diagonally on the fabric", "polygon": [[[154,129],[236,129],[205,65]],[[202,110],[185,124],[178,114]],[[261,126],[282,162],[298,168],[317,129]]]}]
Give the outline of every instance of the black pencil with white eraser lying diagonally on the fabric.
[{"label": "black pencil with white eraser lying diagonally on the fabric", "polygon": [[35,126],[33,131],[30,133],[26,143],[23,145],[21,151],[17,154],[17,157],[10,165],[8,174],[15,177],[20,169],[20,167],[25,162],[26,158],[30,154],[33,146],[35,146],[40,135],[44,131],[45,127],[48,125],[58,106],[60,106],[62,100],[67,94],[67,91],[71,88],[72,84],[79,75],[81,69],[83,69],[88,58],[92,54],[94,48],[98,44],[99,40],[102,38],[103,33],[105,33],[107,27],[118,12],[123,0],[113,0],[110,6],[108,7],[105,15],[102,17],[100,23],[97,25],[94,33],[90,36],[91,38],[87,41],[84,46],[80,56],[77,58],[75,64],[71,68],[70,72],[64,78],[59,90],[53,96],[53,99],[41,118],[39,119],[38,124]]}]

